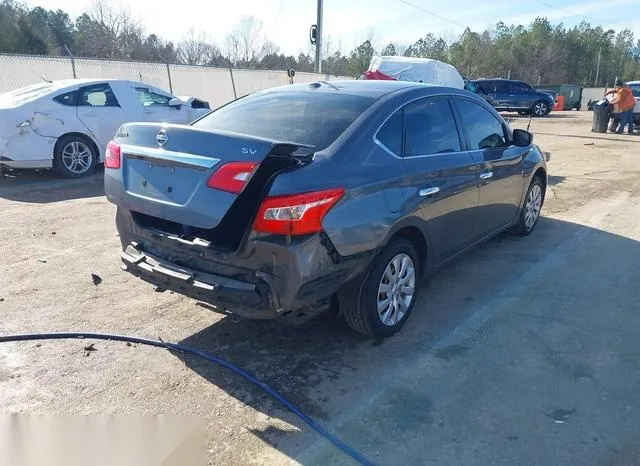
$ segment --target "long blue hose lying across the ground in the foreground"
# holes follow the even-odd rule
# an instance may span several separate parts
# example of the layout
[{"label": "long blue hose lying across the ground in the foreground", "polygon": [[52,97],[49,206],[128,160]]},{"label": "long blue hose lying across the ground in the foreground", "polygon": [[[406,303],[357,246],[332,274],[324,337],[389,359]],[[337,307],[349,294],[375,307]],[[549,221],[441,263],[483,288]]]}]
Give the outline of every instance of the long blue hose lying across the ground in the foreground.
[{"label": "long blue hose lying across the ground in the foreground", "polygon": [[173,351],[179,351],[182,353],[191,354],[193,356],[198,356],[202,359],[206,359],[207,361],[218,364],[219,366],[224,367],[225,369],[229,369],[232,372],[240,375],[244,379],[248,380],[254,385],[257,385],[273,398],[282,403],[286,408],[288,408],[291,412],[293,412],[296,416],[298,416],[302,421],[304,421],[309,427],[318,432],[324,438],[333,443],[337,448],[342,450],[344,453],[349,455],[351,458],[364,465],[373,465],[374,463],[365,458],[363,455],[358,453],[356,450],[351,448],[349,445],[344,443],[338,437],[330,433],[327,429],[325,429],[320,423],[313,420],[307,414],[305,414],[300,408],[286,399],[282,394],[280,394],[277,390],[270,387],[266,383],[257,379],[255,376],[247,372],[246,370],[231,364],[228,361],[225,361],[218,356],[208,353],[206,351],[199,350],[197,348],[192,348],[190,346],[183,346],[177,343],[168,343],[159,340],[149,340],[146,338],[138,338],[138,337],[130,337],[127,335],[112,335],[108,333],[88,333],[88,332],[61,332],[61,333],[27,333],[21,335],[5,335],[0,336],[0,343],[8,343],[8,342],[18,342],[18,341],[33,341],[33,340],[66,340],[71,338],[88,338],[93,340],[112,340],[112,341],[124,341],[129,343],[139,343],[141,345],[155,346],[156,348],[165,348]]}]

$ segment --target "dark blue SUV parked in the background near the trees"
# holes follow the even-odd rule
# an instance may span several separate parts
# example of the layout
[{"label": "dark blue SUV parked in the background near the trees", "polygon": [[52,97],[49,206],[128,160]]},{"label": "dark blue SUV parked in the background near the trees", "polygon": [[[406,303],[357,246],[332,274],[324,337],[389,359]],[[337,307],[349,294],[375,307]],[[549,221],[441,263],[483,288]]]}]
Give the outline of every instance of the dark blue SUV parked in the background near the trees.
[{"label": "dark blue SUV parked in the background near the trees", "polygon": [[478,79],[467,82],[465,88],[484,97],[493,108],[503,112],[541,117],[548,115],[554,104],[551,94],[534,89],[524,81]]}]

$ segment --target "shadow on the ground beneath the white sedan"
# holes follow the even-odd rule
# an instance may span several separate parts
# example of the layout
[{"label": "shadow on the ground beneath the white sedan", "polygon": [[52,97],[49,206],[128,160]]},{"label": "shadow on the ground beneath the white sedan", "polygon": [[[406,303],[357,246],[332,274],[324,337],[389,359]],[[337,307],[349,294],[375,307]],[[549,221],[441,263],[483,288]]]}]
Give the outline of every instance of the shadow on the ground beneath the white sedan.
[{"label": "shadow on the ground beneath the white sedan", "polygon": [[47,204],[104,195],[104,168],[80,179],[57,176],[51,170],[7,170],[0,172],[0,198],[15,202]]}]

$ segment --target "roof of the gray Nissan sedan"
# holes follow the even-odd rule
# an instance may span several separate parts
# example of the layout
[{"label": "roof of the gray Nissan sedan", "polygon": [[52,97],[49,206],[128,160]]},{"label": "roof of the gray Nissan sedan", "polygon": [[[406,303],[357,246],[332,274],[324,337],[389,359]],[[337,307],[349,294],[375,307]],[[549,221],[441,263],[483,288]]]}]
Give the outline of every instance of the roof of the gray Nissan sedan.
[{"label": "roof of the gray Nissan sedan", "polygon": [[462,91],[461,89],[456,89],[453,87],[449,88],[411,81],[344,79],[336,81],[314,81],[307,83],[288,84],[285,86],[265,89],[263,91],[256,92],[256,94],[266,94],[272,92],[319,92],[358,95],[362,97],[372,97],[374,99],[378,99],[396,91],[409,89],[433,89],[434,92],[436,90],[440,90],[441,92],[443,89],[449,89],[451,91]]}]

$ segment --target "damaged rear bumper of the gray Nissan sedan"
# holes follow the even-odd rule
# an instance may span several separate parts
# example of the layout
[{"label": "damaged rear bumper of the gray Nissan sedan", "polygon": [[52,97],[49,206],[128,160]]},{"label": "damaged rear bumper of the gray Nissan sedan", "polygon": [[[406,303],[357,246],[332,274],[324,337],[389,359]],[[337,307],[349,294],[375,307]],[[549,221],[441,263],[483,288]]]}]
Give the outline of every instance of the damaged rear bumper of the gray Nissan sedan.
[{"label": "damaged rear bumper of the gray Nissan sedan", "polygon": [[312,317],[326,310],[372,256],[336,260],[327,238],[253,238],[236,254],[139,225],[118,208],[123,268],[161,288],[251,319]]}]

